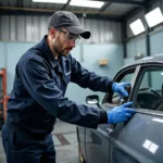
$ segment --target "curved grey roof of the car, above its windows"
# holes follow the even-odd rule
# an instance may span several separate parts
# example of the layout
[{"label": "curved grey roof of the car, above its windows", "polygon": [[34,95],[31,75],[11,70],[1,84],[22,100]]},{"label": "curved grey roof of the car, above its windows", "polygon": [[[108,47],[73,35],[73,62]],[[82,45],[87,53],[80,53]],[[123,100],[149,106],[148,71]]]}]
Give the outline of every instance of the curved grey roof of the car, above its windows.
[{"label": "curved grey roof of the car, above its windows", "polygon": [[146,58],[133,61],[131,63],[126,64],[122,68],[134,66],[134,65],[148,64],[148,63],[163,63],[163,53],[161,53],[161,54],[154,54],[154,55],[151,55],[151,57],[146,57]]}]

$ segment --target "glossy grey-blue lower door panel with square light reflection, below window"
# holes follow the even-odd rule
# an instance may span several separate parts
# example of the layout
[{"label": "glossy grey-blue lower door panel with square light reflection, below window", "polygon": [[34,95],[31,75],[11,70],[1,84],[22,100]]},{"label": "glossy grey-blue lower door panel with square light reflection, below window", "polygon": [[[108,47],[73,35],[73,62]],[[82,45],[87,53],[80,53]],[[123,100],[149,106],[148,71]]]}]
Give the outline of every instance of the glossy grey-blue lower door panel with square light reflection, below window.
[{"label": "glossy grey-blue lower door panel with square light reflection, below window", "polygon": [[118,124],[111,138],[110,163],[162,163],[163,124],[155,120],[163,117],[136,113]]}]

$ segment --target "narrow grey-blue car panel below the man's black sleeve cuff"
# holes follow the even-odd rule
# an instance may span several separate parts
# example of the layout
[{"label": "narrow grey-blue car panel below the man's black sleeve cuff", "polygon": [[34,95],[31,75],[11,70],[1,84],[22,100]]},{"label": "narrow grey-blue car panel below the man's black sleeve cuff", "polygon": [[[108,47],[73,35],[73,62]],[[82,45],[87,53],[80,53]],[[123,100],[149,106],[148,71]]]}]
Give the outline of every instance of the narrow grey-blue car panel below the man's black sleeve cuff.
[{"label": "narrow grey-blue car panel below the man's black sleeve cuff", "polygon": [[106,125],[99,125],[97,129],[86,128],[87,163],[109,163],[110,137],[106,128]]}]

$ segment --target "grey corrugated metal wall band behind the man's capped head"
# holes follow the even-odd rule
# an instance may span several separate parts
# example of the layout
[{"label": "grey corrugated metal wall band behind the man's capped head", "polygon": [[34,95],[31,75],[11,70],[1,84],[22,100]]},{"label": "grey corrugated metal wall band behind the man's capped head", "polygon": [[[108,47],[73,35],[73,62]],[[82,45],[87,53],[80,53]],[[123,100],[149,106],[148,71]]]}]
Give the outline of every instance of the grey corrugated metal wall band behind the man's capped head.
[{"label": "grey corrugated metal wall band behind the man's capped head", "polygon": [[[0,40],[4,41],[39,41],[47,34],[49,16],[2,15],[0,16]],[[122,42],[121,23],[80,20],[91,30],[91,38],[86,43]]]}]

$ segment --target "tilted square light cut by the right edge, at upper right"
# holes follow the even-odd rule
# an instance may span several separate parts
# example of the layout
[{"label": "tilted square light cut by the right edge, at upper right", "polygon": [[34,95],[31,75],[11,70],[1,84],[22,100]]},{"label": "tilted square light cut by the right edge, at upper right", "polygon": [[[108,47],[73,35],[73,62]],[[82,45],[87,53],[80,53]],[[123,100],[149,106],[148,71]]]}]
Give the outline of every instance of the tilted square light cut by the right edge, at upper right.
[{"label": "tilted square light cut by the right edge, at upper right", "polygon": [[149,27],[153,27],[163,22],[163,15],[160,8],[156,8],[145,15]]}]

